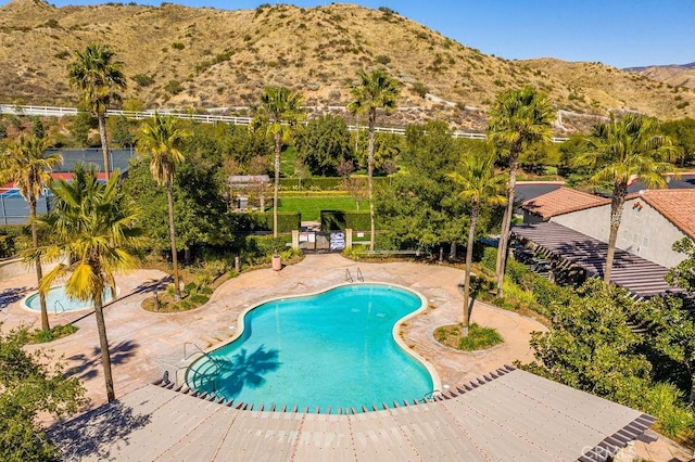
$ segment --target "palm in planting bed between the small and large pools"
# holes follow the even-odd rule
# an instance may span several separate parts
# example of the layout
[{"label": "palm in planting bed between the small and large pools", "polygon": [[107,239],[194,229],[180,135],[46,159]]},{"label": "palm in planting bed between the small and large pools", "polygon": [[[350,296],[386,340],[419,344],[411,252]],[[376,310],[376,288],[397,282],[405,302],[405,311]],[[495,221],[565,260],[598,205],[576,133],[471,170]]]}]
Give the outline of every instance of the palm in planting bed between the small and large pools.
[{"label": "palm in planting bed between the small and large pools", "polygon": [[178,258],[176,255],[176,230],[174,228],[174,194],[172,187],[176,177],[176,166],[185,161],[180,147],[191,133],[177,127],[174,117],[154,117],[146,121],[137,137],[137,149],[150,155],[150,171],[157,184],[166,189],[166,203],[169,209],[169,240],[172,242],[172,264],[174,266],[174,293],[176,300],[181,299],[179,287]]}]

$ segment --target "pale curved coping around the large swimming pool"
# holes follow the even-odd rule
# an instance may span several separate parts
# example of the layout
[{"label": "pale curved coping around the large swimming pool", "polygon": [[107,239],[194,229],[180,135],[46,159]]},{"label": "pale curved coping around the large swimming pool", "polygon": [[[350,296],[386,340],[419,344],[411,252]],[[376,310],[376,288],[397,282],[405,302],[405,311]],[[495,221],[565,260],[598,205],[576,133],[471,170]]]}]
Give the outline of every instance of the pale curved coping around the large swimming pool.
[{"label": "pale curved coping around the large swimming pool", "polygon": [[[243,311],[241,311],[239,313],[239,316],[237,317],[237,329],[235,331],[235,334],[231,335],[229,338],[225,339],[222,343],[218,343],[216,345],[210,346],[205,349],[203,349],[203,356],[200,357],[195,357],[195,358],[189,358],[188,360],[186,360],[181,367],[178,369],[178,372],[180,371],[180,373],[184,374],[184,376],[181,377],[182,380],[180,381],[180,383],[185,384],[186,386],[188,386],[188,381],[186,380],[187,375],[188,375],[188,371],[189,369],[195,364],[198,361],[204,360],[206,355],[210,354],[211,351],[215,351],[219,348],[225,347],[226,345],[229,345],[230,343],[235,342],[236,339],[238,339],[239,337],[241,337],[241,335],[243,335],[243,331],[244,331],[244,318],[245,316],[253,311],[254,309],[258,308],[262,305],[271,303],[271,301],[279,301],[279,300],[287,300],[290,298],[304,298],[304,297],[314,297],[320,294],[324,294],[326,292],[330,292],[332,290],[336,288],[340,288],[340,287],[351,287],[351,286],[355,286],[355,285],[386,285],[389,287],[395,287],[395,288],[400,288],[402,291],[406,291],[409,292],[412,294],[415,294],[419,299],[420,299],[420,307],[407,315],[405,315],[403,318],[399,319],[394,324],[393,324],[393,329],[391,330],[391,335],[393,336],[393,339],[395,341],[396,345],[399,346],[399,348],[401,348],[401,350],[403,350],[404,354],[410,356],[414,360],[416,360],[417,362],[419,362],[426,370],[427,372],[430,374],[430,377],[432,378],[432,390],[431,392],[441,392],[442,389],[442,381],[441,377],[439,376],[439,373],[437,373],[437,370],[434,369],[434,367],[427,360],[425,359],[421,355],[419,355],[417,351],[413,350],[413,348],[409,348],[405,342],[403,341],[403,338],[401,337],[401,335],[399,335],[401,328],[403,326],[403,323],[406,322],[409,319],[413,319],[414,317],[416,317],[417,315],[420,315],[421,312],[424,312],[428,306],[429,306],[429,301],[427,299],[427,297],[425,295],[422,295],[421,293],[419,293],[418,291],[415,291],[410,287],[406,287],[404,285],[400,285],[400,284],[392,284],[392,283],[388,283],[388,282],[358,282],[358,283],[340,283],[340,284],[336,284],[332,286],[329,286],[327,288],[320,290],[320,291],[315,291],[315,292],[307,292],[304,294],[296,294],[296,295],[282,295],[279,297],[271,297],[271,298],[265,298],[256,304],[253,304],[247,308],[243,309]],[[177,383],[179,383],[178,378],[179,376],[177,375]]]}]

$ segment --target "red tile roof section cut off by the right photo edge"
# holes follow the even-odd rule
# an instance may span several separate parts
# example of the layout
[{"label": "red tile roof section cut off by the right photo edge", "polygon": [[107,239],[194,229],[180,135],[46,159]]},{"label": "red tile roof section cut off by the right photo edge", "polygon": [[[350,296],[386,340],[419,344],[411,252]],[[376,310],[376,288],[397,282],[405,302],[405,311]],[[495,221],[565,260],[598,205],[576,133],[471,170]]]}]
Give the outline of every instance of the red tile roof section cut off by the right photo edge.
[{"label": "red tile roof section cut off by the right photo edge", "polygon": [[645,190],[640,191],[639,196],[695,239],[695,190]]}]

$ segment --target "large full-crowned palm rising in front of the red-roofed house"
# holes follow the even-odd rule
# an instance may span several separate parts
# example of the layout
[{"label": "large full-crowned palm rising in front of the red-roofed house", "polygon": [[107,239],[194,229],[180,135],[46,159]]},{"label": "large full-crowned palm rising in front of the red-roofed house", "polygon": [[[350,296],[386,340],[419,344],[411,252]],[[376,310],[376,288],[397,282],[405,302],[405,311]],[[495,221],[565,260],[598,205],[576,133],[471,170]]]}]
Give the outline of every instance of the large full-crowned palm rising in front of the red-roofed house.
[{"label": "large full-crowned palm rising in front of the red-roofed house", "polygon": [[665,161],[671,161],[678,149],[669,137],[660,134],[656,119],[633,114],[621,119],[611,115],[608,123],[594,127],[592,134],[590,151],[579,156],[576,163],[599,168],[592,181],[612,183],[610,233],[604,269],[604,281],[608,283],[628,183],[639,178],[647,188],[665,188],[666,174],[674,169]]}]

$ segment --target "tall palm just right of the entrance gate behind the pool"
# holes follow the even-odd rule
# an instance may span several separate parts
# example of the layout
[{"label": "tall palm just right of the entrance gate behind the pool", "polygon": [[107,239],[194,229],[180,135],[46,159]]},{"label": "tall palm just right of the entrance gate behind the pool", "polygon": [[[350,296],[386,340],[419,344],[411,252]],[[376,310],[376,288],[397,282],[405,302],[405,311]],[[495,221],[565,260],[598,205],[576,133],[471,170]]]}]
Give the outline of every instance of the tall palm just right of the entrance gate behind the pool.
[{"label": "tall palm just right of the entrance gate behind the pool", "polygon": [[367,189],[369,190],[369,218],[371,233],[369,238],[369,251],[374,252],[375,242],[375,215],[374,215],[374,132],[377,125],[377,111],[383,110],[387,114],[396,108],[396,100],[401,94],[401,84],[381,69],[375,69],[371,74],[364,70],[357,73],[359,82],[351,90],[354,100],[348,104],[352,114],[367,113],[369,120],[369,144],[367,149]]}]

